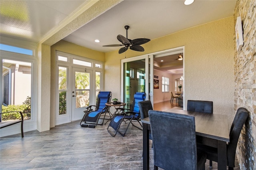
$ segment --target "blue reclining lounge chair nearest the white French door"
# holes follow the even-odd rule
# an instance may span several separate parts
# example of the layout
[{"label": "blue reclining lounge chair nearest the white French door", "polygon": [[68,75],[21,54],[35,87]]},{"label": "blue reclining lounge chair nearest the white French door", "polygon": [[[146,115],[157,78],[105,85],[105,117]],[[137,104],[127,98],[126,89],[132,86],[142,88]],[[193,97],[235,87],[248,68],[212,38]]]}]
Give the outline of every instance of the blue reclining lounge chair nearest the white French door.
[{"label": "blue reclining lounge chair nearest the white French door", "polygon": [[[82,127],[95,128],[96,125],[103,124],[106,113],[109,113],[109,109],[108,107],[106,107],[105,103],[111,102],[111,95],[111,91],[100,91],[98,93],[96,105],[90,105],[86,107],[86,110],[84,111],[84,117],[80,122],[80,125]],[[104,114],[104,118],[100,119],[100,116],[102,114]],[[102,122],[99,122],[99,120],[101,120]]]}]

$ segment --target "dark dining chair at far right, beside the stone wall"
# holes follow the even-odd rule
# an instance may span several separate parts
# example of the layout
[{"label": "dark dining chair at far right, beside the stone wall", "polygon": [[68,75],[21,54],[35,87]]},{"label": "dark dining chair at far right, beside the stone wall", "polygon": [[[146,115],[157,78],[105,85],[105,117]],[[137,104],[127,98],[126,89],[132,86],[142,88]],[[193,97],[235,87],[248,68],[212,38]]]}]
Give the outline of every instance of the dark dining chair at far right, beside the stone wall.
[{"label": "dark dining chair at far right, beside the stone wall", "polygon": [[[234,118],[232,126],[230,128],[229,138],[230,142],[227,144],[227,166],[229,170],[233,170],[235,167],[235,156],[236,156],[236,146],[238,142],[239,135],[244,126],[246,119],[248,118],[248,111],[243,107],[240,107]],[[218,150],[212,146],[206,146],[198,143],[198,149],[206,152],[207,159],[210,160],[210,164],[212,161],[218,162]]]}]

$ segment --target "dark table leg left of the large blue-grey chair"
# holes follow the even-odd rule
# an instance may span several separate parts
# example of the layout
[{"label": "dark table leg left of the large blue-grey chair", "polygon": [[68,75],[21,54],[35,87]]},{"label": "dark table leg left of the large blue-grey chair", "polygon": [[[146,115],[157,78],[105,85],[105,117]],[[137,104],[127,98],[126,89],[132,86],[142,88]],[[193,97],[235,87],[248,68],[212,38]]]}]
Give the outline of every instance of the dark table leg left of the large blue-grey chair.
[{"label": "dark table leg left of the large blue-grey chair", "polygon": [[143,170],[149,170],[149,130],[148,124],[142,123],[143,127]]}]

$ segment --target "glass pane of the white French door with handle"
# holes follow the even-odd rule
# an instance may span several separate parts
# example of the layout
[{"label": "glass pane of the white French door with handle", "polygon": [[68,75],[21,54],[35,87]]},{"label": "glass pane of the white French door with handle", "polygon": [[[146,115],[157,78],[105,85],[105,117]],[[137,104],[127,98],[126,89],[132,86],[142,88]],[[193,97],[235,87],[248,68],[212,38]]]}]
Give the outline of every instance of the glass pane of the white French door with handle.
[{"label": "glass pane of the white French door with handle", "polygon": [[76,108],[89,106],[90,73],[76,71]]}]

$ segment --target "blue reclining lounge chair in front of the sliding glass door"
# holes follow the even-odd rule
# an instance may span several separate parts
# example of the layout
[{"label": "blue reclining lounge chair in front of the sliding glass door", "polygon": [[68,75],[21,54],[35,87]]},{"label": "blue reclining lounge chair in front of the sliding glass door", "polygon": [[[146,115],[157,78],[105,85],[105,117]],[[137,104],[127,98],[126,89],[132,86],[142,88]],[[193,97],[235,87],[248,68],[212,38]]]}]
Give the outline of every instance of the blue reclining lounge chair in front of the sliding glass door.
[{"label": "blue reclining lounge chair in front of the sliding glass door", "polygon": [[[139,110],[139,106],[138,106],[138,102],[140,101],[144,101],[146,99],[146,93],[142,92],[136,92],[134,94],[134,99],[133,99],[133,102],[132,102],[132,106],[131,106],[131,109],[124,109],[124,108],[119,108],[121,109],[121,114],[117,114],[117,115],[113,115],[109,125],[108,125],[108,132],[112,135],[112,136],[116,136],[116,133],[119,132],[122,136],[125,135],[130,123],[132,123],[132,121],[137,121],[141,128],[137,127],[136,125],[134,125],[132,123],[132,125],[134,125],[135,127],[139,128],[140,130],[142,130],[142,125],[140,123],[140,110]],[[129,122],[127,127],[126,127],[126,130],[122,133],[120,132],[119,128],[120,128],[120,125],[122,122]],[[109,127],[112,127],[115,132],[112,133],[110,132],[110,129]]]}]

